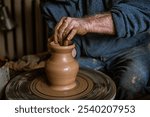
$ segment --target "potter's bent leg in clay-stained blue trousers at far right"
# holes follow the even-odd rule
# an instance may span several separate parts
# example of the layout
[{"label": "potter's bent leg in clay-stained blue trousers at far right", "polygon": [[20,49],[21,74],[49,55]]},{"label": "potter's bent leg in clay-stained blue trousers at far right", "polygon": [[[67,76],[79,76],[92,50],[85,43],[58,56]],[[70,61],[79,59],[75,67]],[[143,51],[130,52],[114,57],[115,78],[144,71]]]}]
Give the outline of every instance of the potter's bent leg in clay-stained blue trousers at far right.
[{"label": "potter's bent leg in clay-stained blue trousers at far right", "polygon": [[135,99],[145,94],[150,73],[150,47],[144,45],[118,54],[108,72],[118,87],[116,99]]}]

